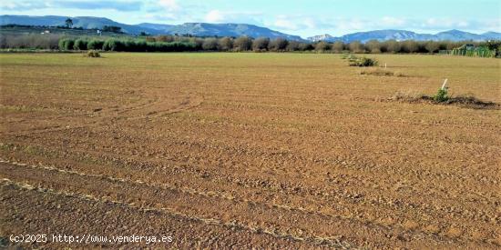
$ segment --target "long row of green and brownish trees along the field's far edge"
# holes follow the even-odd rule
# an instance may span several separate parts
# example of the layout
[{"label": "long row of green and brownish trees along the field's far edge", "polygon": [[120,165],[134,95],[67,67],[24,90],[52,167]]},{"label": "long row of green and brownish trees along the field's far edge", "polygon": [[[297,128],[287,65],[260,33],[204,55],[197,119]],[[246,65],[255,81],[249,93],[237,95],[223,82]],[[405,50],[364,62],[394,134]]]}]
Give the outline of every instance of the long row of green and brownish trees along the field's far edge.
[{"label": "long row of green and brownish trees along the field's far edge", "polygon": [[501,41],[490,42],[453,42],[453,41],[395,41],[377,40],[361,43],[354,41],[298,42],[284,38],[266,37],[189,37],[179,35],[157,35],[139,37],[65,37],[57,35],[3,35],[1,48],[31,48],[59,50],[103,50],[124,52],[181,52],[181,51],[220,51],[220,52],[322,52],[322,53],[438,53],[452,50],[465,44],[483,45],[501,51]]}]

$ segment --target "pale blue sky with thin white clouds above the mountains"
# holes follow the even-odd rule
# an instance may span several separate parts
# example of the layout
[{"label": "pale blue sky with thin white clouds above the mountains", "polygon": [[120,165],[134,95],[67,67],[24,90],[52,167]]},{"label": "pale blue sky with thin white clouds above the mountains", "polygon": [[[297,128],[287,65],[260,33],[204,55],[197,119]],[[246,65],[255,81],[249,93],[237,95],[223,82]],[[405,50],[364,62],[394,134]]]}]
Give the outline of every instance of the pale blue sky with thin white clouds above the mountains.
[{"label": "pale blue sky with thin white clouds above the mountains", "polygon": [[246,23],[303,37],[388,28],[501,32],[499,0],[2,0],[0,14],[91,15],[132,25]]}]

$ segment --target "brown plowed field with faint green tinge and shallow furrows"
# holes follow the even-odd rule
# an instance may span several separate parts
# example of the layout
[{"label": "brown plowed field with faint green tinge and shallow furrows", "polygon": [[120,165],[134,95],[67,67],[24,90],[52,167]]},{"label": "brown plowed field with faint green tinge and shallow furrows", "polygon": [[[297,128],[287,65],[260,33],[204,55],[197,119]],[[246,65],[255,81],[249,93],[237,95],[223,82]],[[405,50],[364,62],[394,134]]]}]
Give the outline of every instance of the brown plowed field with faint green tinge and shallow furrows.
[{"label": "brown plowed field with faint green tinge and shallow furrows", "polygon": [[[0,246],[498,248],[501,61],[0,55]],[[61,243],[51,235],[168,235]],[[48,235],[13,242],[11,235]]]}]

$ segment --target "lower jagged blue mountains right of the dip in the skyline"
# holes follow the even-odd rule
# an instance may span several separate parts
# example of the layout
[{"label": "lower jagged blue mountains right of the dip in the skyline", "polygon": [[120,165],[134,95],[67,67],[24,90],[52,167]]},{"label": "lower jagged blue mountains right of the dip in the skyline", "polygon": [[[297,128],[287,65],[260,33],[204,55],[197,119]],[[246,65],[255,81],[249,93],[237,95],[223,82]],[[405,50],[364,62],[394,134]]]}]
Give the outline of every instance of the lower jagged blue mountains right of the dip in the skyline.
[{"label": "lower jagged blue mountains right of the dip in the skyline", "polygon": [[387,40],[416,40],[416,41],[465,41],[465,40],[474,40],[474,41],[485,41],[485,40],[501,40],[501,33],[496,32],[487,32],[484,34],[473,34],[460,30],[449,30],[441,33],[437,33],[435,35],[432,34],[417,34],[412,31],[406,30],[374,30],[368,32],[358,32],[349,35],[343,35],[334,37],[332,35],[315,35],[307,38],[309,41],[318,42],[318,41],[327,41],[327,42],[336,42],[342,41],[344,43],[350,43],[353,41],[360,41],[365,43],[370,40],[379,40],[379,41],[387,41]]}]

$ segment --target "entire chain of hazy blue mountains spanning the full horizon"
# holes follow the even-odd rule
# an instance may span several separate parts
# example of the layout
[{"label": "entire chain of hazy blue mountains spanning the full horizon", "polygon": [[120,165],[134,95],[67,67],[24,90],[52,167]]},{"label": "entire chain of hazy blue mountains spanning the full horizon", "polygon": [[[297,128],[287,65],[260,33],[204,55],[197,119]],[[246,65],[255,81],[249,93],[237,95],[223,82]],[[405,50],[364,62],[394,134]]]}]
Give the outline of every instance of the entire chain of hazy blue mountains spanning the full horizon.
[{"label": "entire chain of hazy blue mountains spanning the full horizon", "polygon": [[[32,16],[32,15],[0,15],[0,25],[65,25],[65,21],[68,16],[60,15],[44,15],[44,16]],[[484,41],[484,40],[501,40],[501,33],[487,32],[484,34],[473,34],[460,30],[450,30],[435,35],[432,34],[417,34],[412,31],[406,30],[374,30],[369,32],[358,32],[343,36],[332,36],[332,35],[315,35],[308,37],[307,39],[302,39],[299,35],[288,35],[278,31],[271,30],[266,27],[261,27],[257,25],[246,25],[246,24],[207,24],[207,23],[186,23],[182,25],[160,25],[160,24],[150,24],[142,23],[138,25],[125,25],[115,22],[111,19],[104,17],[94,17],[94,16],[76,16],[70,17],[73,20],[73,25],[77,27],[90,28],[102,28],[104,25],[119,26],[125,33],[131,35],[138,35],[141,32],[146,32],[150,35],[195,35],[195,36],[240,36],[248,35],[251,37],[269,37],[273,38],[286,38],[288,40],[295,41],[343,41],[344,43],[350,43],[353,41],[361,41],[363,43],[370,40],[451,40],[451,41],[464,41],[464,40],[474,40],[474,41]]]}]

